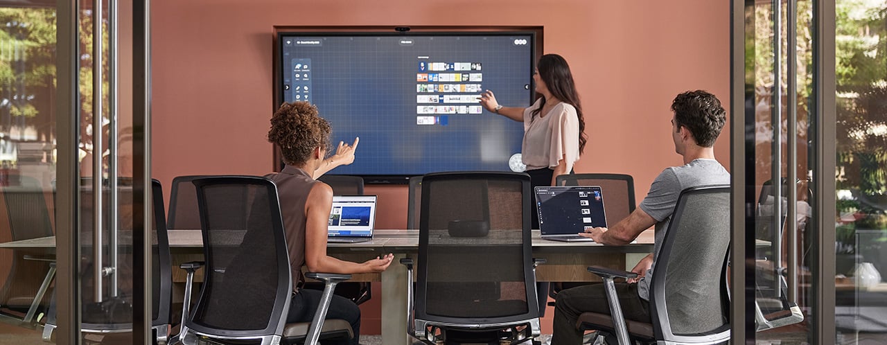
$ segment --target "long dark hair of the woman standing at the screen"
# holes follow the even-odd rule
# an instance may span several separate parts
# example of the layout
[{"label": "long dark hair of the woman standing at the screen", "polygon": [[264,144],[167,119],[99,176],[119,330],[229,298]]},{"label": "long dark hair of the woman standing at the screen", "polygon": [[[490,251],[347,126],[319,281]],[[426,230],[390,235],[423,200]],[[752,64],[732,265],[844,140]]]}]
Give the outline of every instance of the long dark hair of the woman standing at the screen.
[{"label": "long dark hair of the woman standing at the screen", "polygon": [[[576,108],[576,114],[579,120],[579,153],[585,149],[585,142],[588,138],[585,136],[585,119],[582,115],[582,105],[579,103],[579,95],[576,93],[576,84],[573,82],[573,74],[569,72],[567,60],[557,54],[546,54],[539,58],[536,66],[539,77],[546,83],[548,91],[552,96]],[[531,113],[532,116],[542,112],[542,107],[546,105],[546,98],[542,98],[542,103],[537,109]]]}]

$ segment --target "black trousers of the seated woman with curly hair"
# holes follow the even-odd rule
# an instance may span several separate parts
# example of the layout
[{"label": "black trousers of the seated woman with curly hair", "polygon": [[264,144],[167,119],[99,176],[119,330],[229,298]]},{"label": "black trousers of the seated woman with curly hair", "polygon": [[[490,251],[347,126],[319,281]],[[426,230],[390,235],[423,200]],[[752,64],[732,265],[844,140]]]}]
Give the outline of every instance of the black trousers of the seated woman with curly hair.
[{"label": "black trousers of the seated woman with curly hair", "polygon": [[[318,311],[318,303],[323,291],[312,289],[300,289],[298,294],[293,294],[289,302],[289,314],[287,324],[294,322],[311,322]],[[358,345],[360,340],[360,308],[351,300],[340,295],[333,295],[330,308],[326,310],[326,318],[339,318],[351,324],[354,338],[341,341],[320,341],[321,344],[349,344]]]}]

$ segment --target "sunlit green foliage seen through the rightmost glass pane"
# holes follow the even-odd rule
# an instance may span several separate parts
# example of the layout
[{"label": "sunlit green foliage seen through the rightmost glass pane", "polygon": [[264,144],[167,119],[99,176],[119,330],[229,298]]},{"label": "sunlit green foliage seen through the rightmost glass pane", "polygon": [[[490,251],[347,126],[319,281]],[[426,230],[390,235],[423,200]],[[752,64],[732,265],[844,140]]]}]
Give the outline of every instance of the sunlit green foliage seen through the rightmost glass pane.
[{"label": "sunlit green foliage seen through the rightmost glass pane", "polygon": [[887,193],[887,9],[836,2],[837,164],[842,189]]}]

